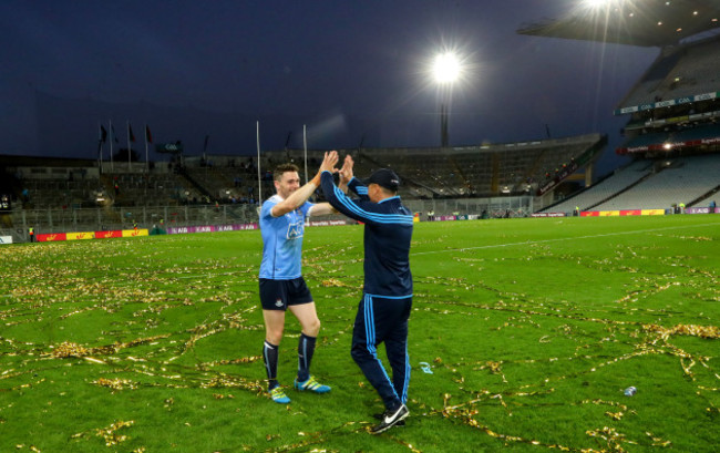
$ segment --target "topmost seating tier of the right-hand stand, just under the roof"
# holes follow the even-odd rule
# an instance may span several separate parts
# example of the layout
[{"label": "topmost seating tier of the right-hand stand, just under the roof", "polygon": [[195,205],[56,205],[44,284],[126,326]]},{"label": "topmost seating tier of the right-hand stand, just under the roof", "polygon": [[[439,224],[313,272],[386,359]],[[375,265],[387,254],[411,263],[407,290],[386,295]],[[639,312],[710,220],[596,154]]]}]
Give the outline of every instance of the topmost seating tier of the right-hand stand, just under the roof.
[{"label": "topmost seating tier of the right-hand stand, just under the roof", "polygon": [[619,103],[616,113],[666,106],[672,100],[720,91],[720,39],[668,48]]}]

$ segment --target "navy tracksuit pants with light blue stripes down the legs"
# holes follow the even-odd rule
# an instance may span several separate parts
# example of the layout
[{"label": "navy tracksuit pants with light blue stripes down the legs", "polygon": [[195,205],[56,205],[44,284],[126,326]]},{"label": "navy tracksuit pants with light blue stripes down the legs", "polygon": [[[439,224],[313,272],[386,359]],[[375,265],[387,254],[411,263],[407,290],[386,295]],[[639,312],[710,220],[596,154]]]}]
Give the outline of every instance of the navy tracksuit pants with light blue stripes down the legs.
[{"label": "navy tracksuit pants with light blue stripes down the legs", "polygon": [[[351,354],[382,398],[385,409],[395,409],[408,401],[408,318],[411,308],[412,296],[387,298],[367,294],[358,306]],[[392,379],[378,358],[378,346],[383,342]]]}]

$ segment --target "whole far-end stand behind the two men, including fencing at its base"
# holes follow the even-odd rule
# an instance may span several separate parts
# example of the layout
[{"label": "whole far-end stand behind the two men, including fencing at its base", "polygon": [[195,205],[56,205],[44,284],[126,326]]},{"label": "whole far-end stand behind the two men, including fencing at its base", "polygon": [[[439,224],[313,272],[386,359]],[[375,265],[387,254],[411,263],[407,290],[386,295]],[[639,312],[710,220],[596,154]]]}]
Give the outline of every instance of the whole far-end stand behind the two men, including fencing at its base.
[{"label": "whole far-end stand behind the two men, including fencing at its base", "polygon": [[[544,184],[562,184],[582,161],[590,166],[604,145],[590,134],[536,142],[487,144],[452,148],[340,150],[351,154],[356,174],[393,168],[403,179],[400,195],[418,213],[436,216],[483,214],[487,217],[525,216],[534,210],[535,194]],[[317,172],[325,151],[307,152],[307,173]],[[305,178],[305,151],[264,152],[259,192],[275,193],[271,171],[294,162]],[[39,159],[16,165],[10,157],[0,171],[22,173],[6,184],[13,199],[6,223],[22,230],[76,231],[165,226],[225,225],[257,222],[258,164],[253,157],[185,157],[167,165],[63,162]],[[126,165],[126,166],[125,166]],[[316,193],[316,200],[322,194]]]}]

